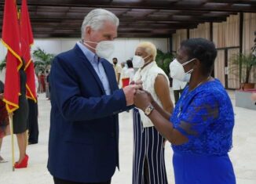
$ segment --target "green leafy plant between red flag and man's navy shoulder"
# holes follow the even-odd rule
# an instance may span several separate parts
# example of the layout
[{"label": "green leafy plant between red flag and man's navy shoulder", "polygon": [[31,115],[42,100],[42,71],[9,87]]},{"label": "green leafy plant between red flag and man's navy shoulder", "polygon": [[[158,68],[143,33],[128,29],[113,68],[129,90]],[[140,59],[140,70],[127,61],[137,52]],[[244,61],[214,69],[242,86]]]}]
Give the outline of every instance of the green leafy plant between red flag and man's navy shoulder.
[{"label": "green leafy plant between red flag and man's navy shoulder", "polygon": [[38,48],[33,52],[33,60],[35,65],[35,73],[38,74],[39,70],[45,71],[49,69],[54,54],[46,53],[44,50]]}]

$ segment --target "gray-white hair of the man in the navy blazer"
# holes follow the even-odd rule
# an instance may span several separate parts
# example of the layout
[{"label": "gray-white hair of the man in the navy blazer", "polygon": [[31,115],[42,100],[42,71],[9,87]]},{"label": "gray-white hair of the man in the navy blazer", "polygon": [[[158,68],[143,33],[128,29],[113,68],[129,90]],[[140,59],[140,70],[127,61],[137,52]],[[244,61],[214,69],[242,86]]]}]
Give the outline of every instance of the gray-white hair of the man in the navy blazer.
[{"label": "gray-white hair of the man in the navy blazer", "polygon": [[81,27],[81,37],[84,39],[86,27],[90,26],[93,30],[99,30],[102,26],[104,21],[110,21],[115,24],[116,27],[119,26],[119,18],[115,16],[114,13],[109,12],[106,9],[93,9],[88,13],[83,22]]}]

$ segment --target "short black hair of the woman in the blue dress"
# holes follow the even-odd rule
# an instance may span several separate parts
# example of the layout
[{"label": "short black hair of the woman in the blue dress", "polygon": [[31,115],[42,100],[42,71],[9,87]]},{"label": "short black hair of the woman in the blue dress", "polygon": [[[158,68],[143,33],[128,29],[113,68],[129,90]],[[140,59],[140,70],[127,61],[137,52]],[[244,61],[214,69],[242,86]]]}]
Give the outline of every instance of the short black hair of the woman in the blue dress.
[{"label": "short black hair of the woman in the blue dress", "polygon": [[200,61],[203,74],[210,74],[214,68],[217,49],[212,41],[204,38],[192,38],[181,42],[181,48],[188,53],[188,60],[196,58]]}]

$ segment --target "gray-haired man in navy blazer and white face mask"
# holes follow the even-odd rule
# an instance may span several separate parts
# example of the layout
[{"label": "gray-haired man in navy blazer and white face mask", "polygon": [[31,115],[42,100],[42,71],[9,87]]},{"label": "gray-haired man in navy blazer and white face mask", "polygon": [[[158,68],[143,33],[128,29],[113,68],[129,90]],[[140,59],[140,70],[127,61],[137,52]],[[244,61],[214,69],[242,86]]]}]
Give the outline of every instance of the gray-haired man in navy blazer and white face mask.
[{"label": "gray-haired man in navy blazer and white face mask", "polygon": [[53,60],[47,168],[55,184],[109,184],[119,167],[119,117],[129,110],[140,84],[119,89],[109,58],[119,19],[93,9],[82,40]]}]

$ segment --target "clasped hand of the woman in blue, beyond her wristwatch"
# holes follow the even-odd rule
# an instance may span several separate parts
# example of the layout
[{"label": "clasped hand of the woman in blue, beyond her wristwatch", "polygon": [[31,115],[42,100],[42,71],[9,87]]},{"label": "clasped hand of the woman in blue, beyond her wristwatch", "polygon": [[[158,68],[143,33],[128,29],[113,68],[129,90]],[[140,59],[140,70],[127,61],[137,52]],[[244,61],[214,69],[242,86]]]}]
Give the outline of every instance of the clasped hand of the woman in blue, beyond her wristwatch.
[{"label": "clasped hand of the woman in blue, beyond her wristwatch", "polygon": [[134,96],[134,105],[141,110],[145,110],[152,103],[152,96],[149,92],[142,91],[137,89],[137,92]]}]

